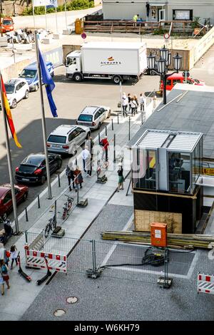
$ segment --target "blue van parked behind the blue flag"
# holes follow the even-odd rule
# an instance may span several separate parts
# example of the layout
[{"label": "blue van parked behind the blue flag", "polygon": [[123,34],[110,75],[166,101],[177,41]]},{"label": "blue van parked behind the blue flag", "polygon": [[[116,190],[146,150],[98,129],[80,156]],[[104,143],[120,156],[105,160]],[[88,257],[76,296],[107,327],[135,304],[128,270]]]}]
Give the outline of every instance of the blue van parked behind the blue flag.
[{"label": "blue van parked behind the blue flag", "polygon": [[[51,77],[54,77],[54,66],[50,61],[46,61],[46,66],[51,74]],[[30,91],[37,91],[39,88],[39,78],[37,74],[37,64],[36,62],[29,64],[24,68],[19,78],[24,78],[29,84]]]}]

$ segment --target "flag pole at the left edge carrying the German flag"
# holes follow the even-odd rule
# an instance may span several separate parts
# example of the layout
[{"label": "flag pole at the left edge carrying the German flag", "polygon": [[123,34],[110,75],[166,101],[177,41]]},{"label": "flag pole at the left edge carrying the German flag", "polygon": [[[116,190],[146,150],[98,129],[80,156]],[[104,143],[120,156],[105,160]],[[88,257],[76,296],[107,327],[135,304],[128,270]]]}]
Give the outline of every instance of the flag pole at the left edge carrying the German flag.
[{"label": "flag pole at the left edge carrying the German flag", "polygon": [[13,168],[12,168],[12,160],[11,160],[11,149],[10,149],[10,143],[9,143],[9,133],[8,133],[8,128],[7,128],[3,88],[1,86],[1,78],[2,77],[1,77],[1,71],[0,71],[1,110],[3,113],[4,131],[5,131],[5,138],[6,138],[6,155],[7,155],[7,160],[8,160],[9,177],[10,177],[10,183],[11,183],[11,195],[12,195],[12,203],[13,203],[13,210],[14,210],[14,221],[15,221],[15,227],[16,227],[16,234],[19,234],[19,221],[18,221],[18,215],[17,215],[17,209],[16,209],[16,195],[15,195],[14,177],[13,177],[13,171],[12,171]]}]

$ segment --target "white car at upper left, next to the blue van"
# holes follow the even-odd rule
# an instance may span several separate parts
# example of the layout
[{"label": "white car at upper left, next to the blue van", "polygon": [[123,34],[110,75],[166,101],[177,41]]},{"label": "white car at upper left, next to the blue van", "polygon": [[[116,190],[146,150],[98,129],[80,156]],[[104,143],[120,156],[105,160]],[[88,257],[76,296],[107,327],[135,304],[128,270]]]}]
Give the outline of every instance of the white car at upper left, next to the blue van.
[{"label": "white car at upper left, next to the blue van", "polygon": [[10,79],[6,81],[4,86],[11,108],[16,108],[20,100],[29,98],[29,84],[23,78]]}]

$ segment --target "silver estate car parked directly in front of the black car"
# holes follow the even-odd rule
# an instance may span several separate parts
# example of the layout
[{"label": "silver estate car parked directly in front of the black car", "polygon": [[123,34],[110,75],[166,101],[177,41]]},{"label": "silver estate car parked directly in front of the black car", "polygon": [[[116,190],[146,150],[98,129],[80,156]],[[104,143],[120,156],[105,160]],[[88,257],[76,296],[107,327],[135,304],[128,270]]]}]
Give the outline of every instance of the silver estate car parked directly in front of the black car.
[{"label": "silver estate car parked directly in front of the black car", "polygon": [[50,153],[75,155],[78,145],[83,144],[90,133],[90,128],[83,125],[59,125],[48,137],[48,150]]}]

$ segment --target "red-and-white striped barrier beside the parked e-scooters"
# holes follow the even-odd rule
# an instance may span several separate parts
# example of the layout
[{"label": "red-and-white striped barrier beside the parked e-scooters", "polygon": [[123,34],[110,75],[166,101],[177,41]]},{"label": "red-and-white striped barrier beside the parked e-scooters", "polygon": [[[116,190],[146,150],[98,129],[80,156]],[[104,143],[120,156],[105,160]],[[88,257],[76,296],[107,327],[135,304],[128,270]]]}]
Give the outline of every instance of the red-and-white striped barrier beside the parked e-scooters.
[{"label": "red-and-white striped barrier beside the parked e-scooters", "polygon": [[26,265],[29,267],[36,267],[40,269],[46,269],[46,257],[49,269],[57,272],[67,272],[67,257],[62,254],[51,254],[50,252],[40,252],[37,250],[26,249]]}]

